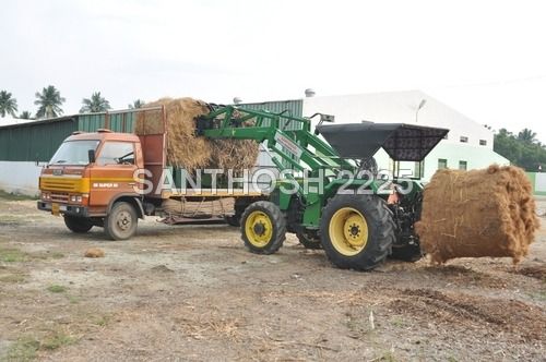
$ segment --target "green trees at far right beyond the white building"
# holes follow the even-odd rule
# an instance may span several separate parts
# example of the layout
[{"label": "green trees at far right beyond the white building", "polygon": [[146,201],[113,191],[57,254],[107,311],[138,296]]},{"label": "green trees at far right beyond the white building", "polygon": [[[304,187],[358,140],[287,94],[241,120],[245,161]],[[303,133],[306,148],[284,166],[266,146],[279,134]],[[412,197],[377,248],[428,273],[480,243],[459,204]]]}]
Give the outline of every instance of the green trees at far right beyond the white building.
[{"label": "green trees at far right beyond the white building", "polygon": [[537,171],[539,166],[544,170],[546,166],[546,145],[536,141],[536,133],[529,129],[518,135],[499,130],[495,134],[494,150],[526,171]]}]

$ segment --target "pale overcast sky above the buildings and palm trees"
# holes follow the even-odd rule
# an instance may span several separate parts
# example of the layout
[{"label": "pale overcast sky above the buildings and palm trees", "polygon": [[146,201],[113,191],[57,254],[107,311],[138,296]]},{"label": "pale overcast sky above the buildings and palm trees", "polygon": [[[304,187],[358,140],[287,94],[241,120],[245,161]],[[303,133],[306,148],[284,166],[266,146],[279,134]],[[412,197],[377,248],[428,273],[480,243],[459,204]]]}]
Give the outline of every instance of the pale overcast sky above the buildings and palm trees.
[{"label": "pale overcast sky above the buildings and palm trees", "polygon": [[0,89],[212,102],[422,89],[546,143],[542,1],[2,0]]}]

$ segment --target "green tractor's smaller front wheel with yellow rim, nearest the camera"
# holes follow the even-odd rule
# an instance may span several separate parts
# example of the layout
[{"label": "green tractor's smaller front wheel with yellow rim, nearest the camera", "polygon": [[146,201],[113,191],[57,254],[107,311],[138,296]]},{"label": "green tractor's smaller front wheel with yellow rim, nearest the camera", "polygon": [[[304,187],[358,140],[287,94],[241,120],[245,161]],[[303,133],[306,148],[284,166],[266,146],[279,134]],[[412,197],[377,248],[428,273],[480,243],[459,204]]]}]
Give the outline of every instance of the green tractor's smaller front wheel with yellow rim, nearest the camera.
[{"label": "green tractor's smaller front wheel with yellow rim, nearest the camera", "polygon": [[247,249],[256,254],[273,254],[286,239],[286,220],[275,204],[259,201],[242,213],[241,237]]}]

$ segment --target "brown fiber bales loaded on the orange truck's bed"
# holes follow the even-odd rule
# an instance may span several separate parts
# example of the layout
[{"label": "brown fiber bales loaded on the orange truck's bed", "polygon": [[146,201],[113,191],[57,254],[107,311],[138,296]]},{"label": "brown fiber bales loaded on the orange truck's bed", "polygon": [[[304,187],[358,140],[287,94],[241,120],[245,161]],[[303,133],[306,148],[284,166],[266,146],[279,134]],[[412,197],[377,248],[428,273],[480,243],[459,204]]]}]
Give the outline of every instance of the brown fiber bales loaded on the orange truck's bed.
[{"label": "brown fiber bales loaded on the orange truck's bed", "polygon": [[[197,136],[194,118],[209,113],[206,105],[193,98],[162,98],[144,107],[165,106],[167,118],[167,162],[192,171],[198,168],[241,170],[252,168],[258,158],[258,143],[251,140],[207,140]],[[139,135],[163,132],[159,112],[139,112]]]}]

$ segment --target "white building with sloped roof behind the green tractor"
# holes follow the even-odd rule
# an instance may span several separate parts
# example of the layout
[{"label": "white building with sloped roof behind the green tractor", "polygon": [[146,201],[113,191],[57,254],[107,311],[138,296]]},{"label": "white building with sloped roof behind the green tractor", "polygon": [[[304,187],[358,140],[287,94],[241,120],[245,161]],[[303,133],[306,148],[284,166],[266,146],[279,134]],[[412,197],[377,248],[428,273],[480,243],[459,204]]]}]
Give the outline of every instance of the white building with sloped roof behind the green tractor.
[{"label": "white building with sloped roof behind the green tractor", "polygon": [[[491,130],[420,90],[311,96],[298,100],[250,106],[268,108],[274,105],[274,109],[277,110],[283,104],[294,105],[298,101],[301,101],[301,116],[309,117],[317,112],[333,114],[335,123],[371,121],[430,125],[450,130],[447,138],[442,140],[425,158],[420,172],[419,166],[414,162],[401,164],[402,169],[408,170],[414,177],[420,173],[424,180],[430,179],[438,168],[443,167],[470,170],[485,168],[491,164],[510,164],[508,159],[492,150],[494,133]],[[261,162],[268,164],[266,157],[261,155]],[[375,158],[380,169],[392,170],[392,160],[384,150],[380,149]]]}]

